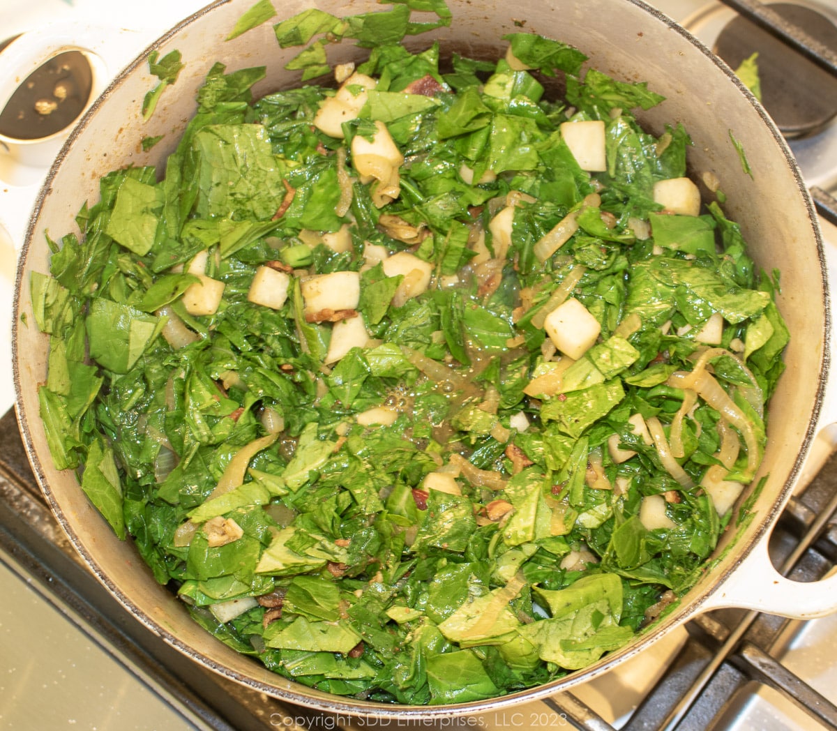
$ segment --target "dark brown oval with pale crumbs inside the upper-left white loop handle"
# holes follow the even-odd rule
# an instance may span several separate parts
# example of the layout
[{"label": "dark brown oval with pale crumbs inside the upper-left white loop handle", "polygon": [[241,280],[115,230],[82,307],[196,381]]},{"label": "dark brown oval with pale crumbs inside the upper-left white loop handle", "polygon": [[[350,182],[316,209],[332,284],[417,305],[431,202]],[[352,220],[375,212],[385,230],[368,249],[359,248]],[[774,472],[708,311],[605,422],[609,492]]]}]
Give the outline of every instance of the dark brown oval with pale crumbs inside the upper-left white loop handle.
[{"label": "dark brown oval with pale crumbs inside the upper-left white loop handle", "polygon": [[0,112],[0,134],[39,140],[72,124],[93,89],[90,63],[80,51],[64,51],[42,64],[18,86]]}]

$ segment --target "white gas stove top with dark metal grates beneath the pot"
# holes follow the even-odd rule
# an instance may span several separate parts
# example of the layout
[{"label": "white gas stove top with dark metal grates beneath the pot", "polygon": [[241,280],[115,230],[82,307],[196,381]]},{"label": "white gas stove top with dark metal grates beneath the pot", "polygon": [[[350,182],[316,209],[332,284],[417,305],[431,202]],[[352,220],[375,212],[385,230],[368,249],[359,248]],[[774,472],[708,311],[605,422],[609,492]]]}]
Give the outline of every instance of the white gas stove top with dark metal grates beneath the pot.
[{"label": "white gas stove top with dark metal grates beneath the pot", "polygon": [[[121,28],[125,61],[203,0],[32,0],[0,8],[13,35],[44,23]],[[735,13],[705,0],[650,3],[713,48]],[[837,18],[834,2],[796,3]],[[9,3],[9,6],[11,3]],[[125,29],[130,29],[125,31]],[[0,38],[0,42],[2,42]],[[130,47],[128,47],[130,46]],[[116,70],[116,69],[114,69]],[[806,183],[837,188],[837,124],[790,142]],[[0,152],[0,182],[31,196],[43,166]],[[8,191],[8,188],[7,188]],[[0,204],[3,198],[0,198]],[[823,222],[837,285],[837,228]],[[10,311],[15,237],[0,226],[0,297]],[[8,343],[8,322],[0,339]],[[7,346],[4,346],[8,348]],[[13,404],[11,366],[0,363],[0,414]],[[151,636],[92,578],[54,523],[28,469],[13,413],[0,419],[0,726],[44,728],[837,728],[837,617],[806,623],[728,610],[704,615],[632,661],[574,691],[506,713],[444,723],[337,718],[295,708],[224,681]],[[816,447],[809,489],[774,532],[793,578],[814,580],[837,559],[837,428]],[[820,470],[819,468],[822,467]],[[821,528],[820,523],[825,523]],[[814,533],[812,534],[812,528]],[[810,545],[809,545],[810,544]],[[806,550],[799,548],[802,546]],[[731,637],[734,642],[731,640]],[[725,645],[732,651],[725,654]],[[714,667],[714,666],[717,667]],[[710,670],[712,672],[710,672]],[[789,700],[790,698],[790,700]],[[808,708],[808,710],[803,710]]]}]

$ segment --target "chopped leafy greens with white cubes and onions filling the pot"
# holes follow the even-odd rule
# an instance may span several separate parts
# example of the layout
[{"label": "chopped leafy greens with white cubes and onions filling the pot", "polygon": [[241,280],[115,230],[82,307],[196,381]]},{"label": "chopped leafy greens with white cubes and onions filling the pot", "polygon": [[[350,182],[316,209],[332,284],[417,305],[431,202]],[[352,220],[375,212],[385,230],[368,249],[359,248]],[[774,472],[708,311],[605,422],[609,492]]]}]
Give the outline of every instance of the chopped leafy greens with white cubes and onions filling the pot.
[{"label": "chopped leafy greens with white cubes and onions filling the pot", "polygon": [[[701,482],[752,477],[789,338],[721,204],[655,203],[691,144],[639,125],[659,95],[531,33],[450,73],[401,43],[450,22],[276,23],[303,80],[370,49],[360,108],[214,64],[165,164],[105,175],[30,279],[55,465],[218,639],[381,703],[551,682],[685,594],[732,521]],[[149,114],[180,67],[152,59]]]}]

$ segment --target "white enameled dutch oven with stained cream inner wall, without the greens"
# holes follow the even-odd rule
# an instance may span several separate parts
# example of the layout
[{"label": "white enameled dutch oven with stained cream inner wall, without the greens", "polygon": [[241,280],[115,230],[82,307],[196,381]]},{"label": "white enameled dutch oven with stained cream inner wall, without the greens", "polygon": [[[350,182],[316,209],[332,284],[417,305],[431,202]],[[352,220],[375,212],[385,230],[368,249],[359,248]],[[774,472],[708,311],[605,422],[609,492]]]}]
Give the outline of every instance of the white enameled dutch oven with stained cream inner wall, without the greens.
[{"label": "white enameled dutch oven with stained cream inner wall, without the greens", "polygon": [[[454,22],[451,28],[435,31],[434,37],[443,54],[455,51],[496,59],[505,51],[501,36],[524,23],[528,31],[577,46],[588,54],[588,63],[604,73],[620,80],[647,81],[652,90],[665,95],[664,103],[640,116],[650,131],[659,134],[666,122],[682,121],[690,132],[692,176],[701,179],[711,173],[721,181],[727,215],[741,225],[757,264],[781,271],[778,306],[793,337],[785,356],[787,369],[770,404],[763,466],[753,481],[755,485],[761,476],[768,476],[752,505],[754,519],[727,532],[711,571],[665,620],[629,646],[546,686],[458,706],[382,706],[296,685],[209,636],[167,589],[157,585],[131,543],[119,541],[87,502],[75,476],[52,465],[37,394],[38,384],[46,378],[47,338],[33,325],[29,274],[48,270],[44,234],[74,229],[80,203],[97,198],[101,175],[115,167],[157,165],[172,151],[195,110],[195,90],[216,61],[226,64],[228,71],[266,65],[267,78],[255,89],[257,94],[299,84],[296,75],[283,69],[295,51],[279,48],[271,23],[224,40],[250,5],[252,0],[223,0],[203,9],[117,75],[75,127],[49,171],[28,221],[18,266],[13,364],[23,439],[59,522],[126,611],[196,662],[271,696],[335,713],[430,718],[489,712],[567,690],[644,651],[676,625],[708,610],[735,606],[798,618],[837,610],[837,577],[814,584],[789,582],[773,569],[767,552],[768,535],[805,471],[815,435],[837,420],[837,399],[828,387],[833,322],[814,208],[788,147],[752,95],[682,28],[636,0],[451,0]],[[339,0],[275,3],[282,18],[311,5],[335,15],[379,7],[373,0],[357,0],[348,8]],[[277,16],[273,22],[280,19]],[[414,47],[428,43],[424,36],[408,39]],[[177,93],[163,95],[151,120],[143,122],[141,102],[156,83],[148,71],[147,55],[158,50],[163,56],[173,49],[181,52],[186,64]],[[332,64],[362,54],[351,44],[333,46],[330,52]],[[165,135],[163,141],[144,152],[141,140],[157,135]],[[744,171],[732,138],[741,143],[752,177]]]}]

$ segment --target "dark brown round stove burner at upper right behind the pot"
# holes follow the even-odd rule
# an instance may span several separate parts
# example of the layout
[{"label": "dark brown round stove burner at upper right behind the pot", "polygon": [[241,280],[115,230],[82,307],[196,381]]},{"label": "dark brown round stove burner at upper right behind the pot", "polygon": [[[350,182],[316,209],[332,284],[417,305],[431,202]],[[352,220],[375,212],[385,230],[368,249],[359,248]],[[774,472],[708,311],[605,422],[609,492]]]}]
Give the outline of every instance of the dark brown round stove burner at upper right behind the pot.
[{"label": "dark brown round stove burner at upper right behind the pot", "polygon": [[[771,4],[770,9],[837,48],[837,26],[823,14],[792,3]],[[737,16],[727,23],[713,50],[732,69],[758,54],[763,105],[785,136],[813,134],[837,115],[837,79],[747,18]]]}]

